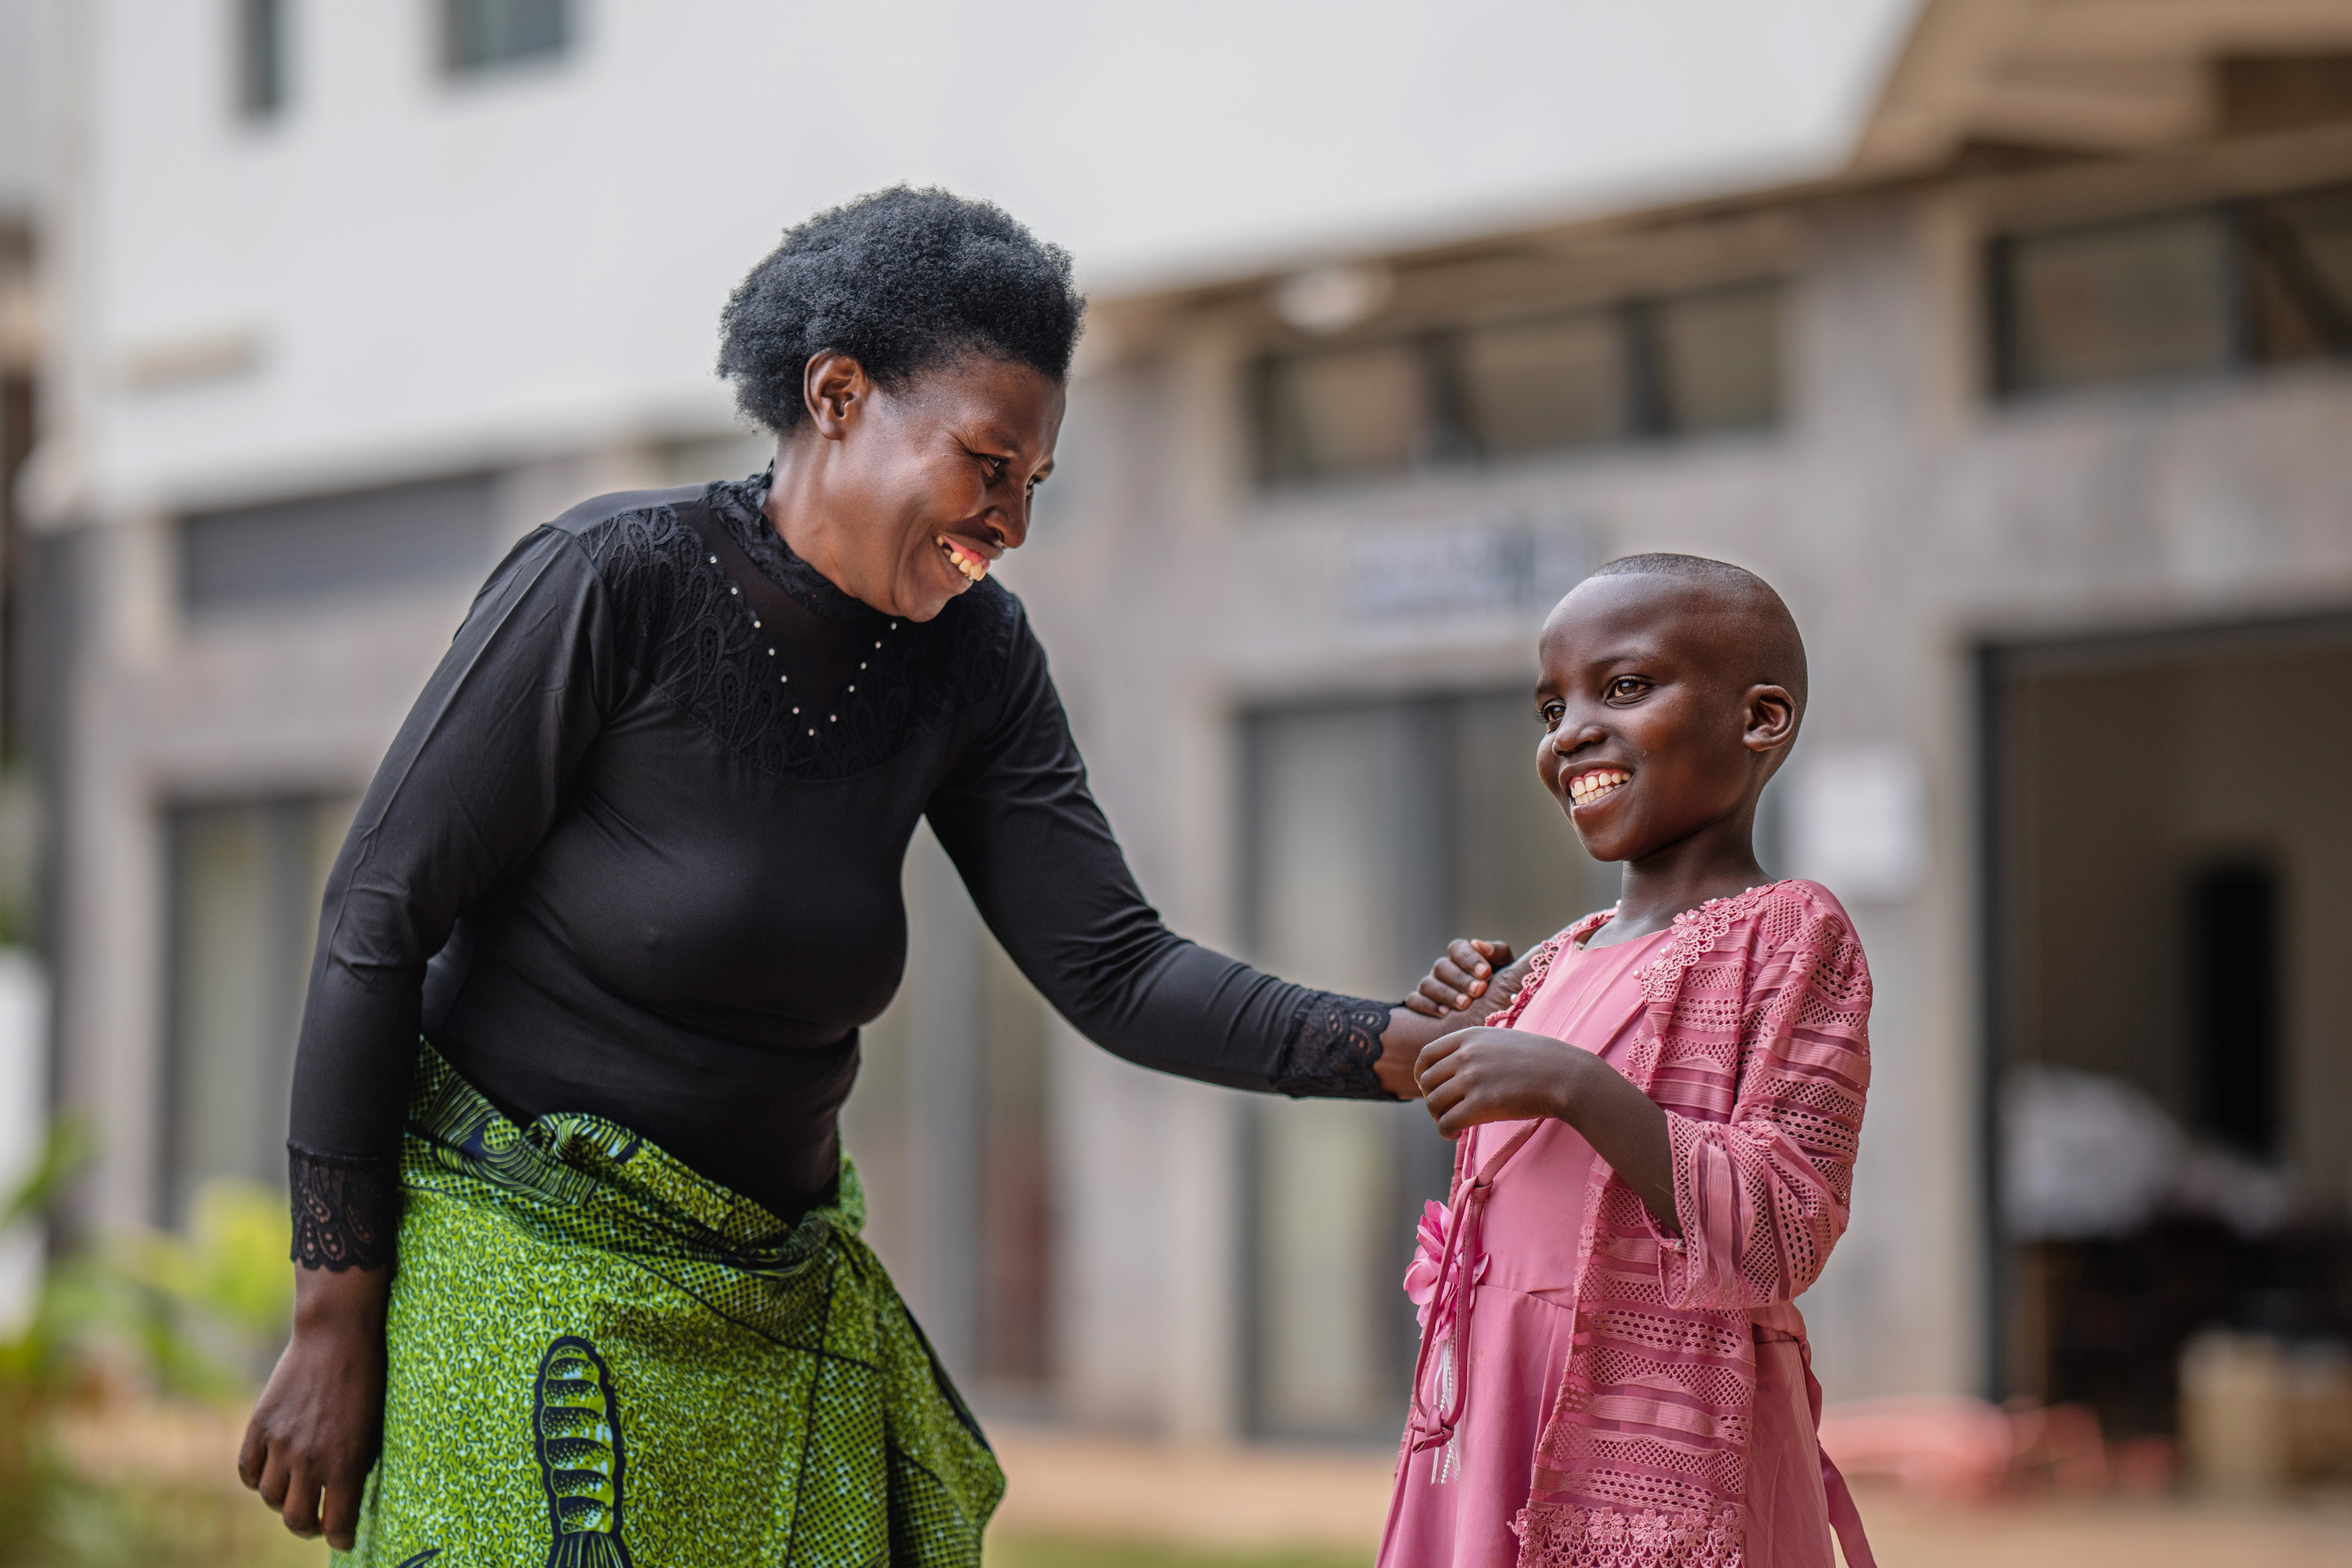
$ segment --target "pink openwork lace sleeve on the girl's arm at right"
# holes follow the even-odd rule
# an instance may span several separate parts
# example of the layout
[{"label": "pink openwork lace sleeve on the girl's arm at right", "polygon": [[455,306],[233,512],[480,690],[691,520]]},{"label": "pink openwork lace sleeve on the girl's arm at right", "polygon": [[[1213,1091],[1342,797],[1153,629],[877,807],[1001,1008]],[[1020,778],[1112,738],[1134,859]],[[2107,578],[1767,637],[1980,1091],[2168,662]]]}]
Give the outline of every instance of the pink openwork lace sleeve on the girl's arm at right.
[{"label": "pink openwork lace sleeve on the girl's arm at right", "polygon": [[1675,1215],[1661,1234],[1672,1307],[1752,1309],[1799,1295],[1846,1229],[1870,1088],[1870,966],[1820,898],[1757,917],[1729,1121],[1668,1110]]}]

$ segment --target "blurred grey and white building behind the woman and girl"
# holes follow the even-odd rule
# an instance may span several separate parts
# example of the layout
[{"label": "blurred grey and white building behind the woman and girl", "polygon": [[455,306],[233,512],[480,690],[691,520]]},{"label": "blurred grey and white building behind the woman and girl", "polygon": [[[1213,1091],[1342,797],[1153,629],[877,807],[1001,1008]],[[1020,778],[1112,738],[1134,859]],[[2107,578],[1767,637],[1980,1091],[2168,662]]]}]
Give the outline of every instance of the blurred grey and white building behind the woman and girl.
[{"label": "blurred grey and white building behind the woman and girl", "polygon": [[[56,9],[89,99],[24,484],[61,1095],[106,1121],[113,1220],[275,1175],[318,884],[470,588],[586,494],[764,461],[677,343],[708,355],[731,277],[837,193],[713,158],[767,125],[743,101],[790,120],[823,92],[713,63],[729,28],[776,45],[764,7],[134,9]],[[2352,5],[1886,14],[1898,49],[1839,56],[1867,108],[1745,160],[1738,134],[1661,167],[1557,143],[1451,200],[1479,153],[1416,136],[1399,207],[1301,186],[1315,223],[1190,249],[1160,200],[1247,153],[1223,115],[1089,183],[1141,216],[1087,219],[1122,263],[1007,578],[1171,922],[1402,994],[1446,936],[1524,945],[1611,898],[1531,778],[1552,597],[1630,550],[1762,571],[1813,654],[1766,863],[1846,898],[1879,980],[1856,1222],[1806,1298],[1823,1378],[2166,1432],[2194,1328],[2352,1331],[2326,1001],[2352,938]],[[1510,85],[1479,110],[1498,165],[1559,129],[1512,45],[1477,45]],[[1110,113],[1101,35],[1037,47]],[[1319,73],[1310,103],[1395,68],[1350,59],[1364,80]],[[903,68],[906,99],[955,80]],[[680,113],[701,89],[708,125]],[[906,158],[861,183],[936,167]],[[1047,1016],[929,844],[908,882],[920,957],[849,1143],[950,1363],[1098,1422],[1392,1436],[1397,1276],[1446,1171],[1425,1117],[1131,1070]],[[2089,1100],[2030,1100],[2051,1081],[2124,1095],[2119,1138],[2178,1159],[2098,1213],[2004,1204],[2004,1150],[2082,1143]],[[2027,1100],[2053,1138],[2009,1135]],[[2018,1168],[2032,1190],[2046,1159]]]}]

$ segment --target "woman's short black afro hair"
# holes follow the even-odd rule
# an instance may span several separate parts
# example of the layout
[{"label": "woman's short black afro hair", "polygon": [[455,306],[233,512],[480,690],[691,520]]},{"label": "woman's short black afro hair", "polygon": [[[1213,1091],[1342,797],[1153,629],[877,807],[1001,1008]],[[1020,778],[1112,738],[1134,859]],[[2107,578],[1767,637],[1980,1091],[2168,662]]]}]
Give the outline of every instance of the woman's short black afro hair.
[{"label": "woman's short black afro hair", "polygon": [[993,202],[891,186],[783,230],[720,313],[720,374],[783,433],[828,348],[889,388],[974,350],[1063,381],[1084,313],[1070,252]]}]

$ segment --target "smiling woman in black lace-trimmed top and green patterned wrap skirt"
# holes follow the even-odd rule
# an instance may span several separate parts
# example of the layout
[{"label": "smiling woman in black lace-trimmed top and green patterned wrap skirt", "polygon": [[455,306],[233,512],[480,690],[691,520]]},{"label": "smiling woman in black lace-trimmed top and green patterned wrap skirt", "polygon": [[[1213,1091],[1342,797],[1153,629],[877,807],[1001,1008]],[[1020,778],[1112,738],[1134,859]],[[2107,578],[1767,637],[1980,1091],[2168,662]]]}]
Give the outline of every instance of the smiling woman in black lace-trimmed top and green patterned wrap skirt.
[{"label": "smiling woman in black lace-trimmed top and green patterned wrap skirt", "polygon": [[1442,1023],[1160,924],[988,581],[1082,310],[995,207],[826,212],[722,317],[774,468],[588,501],[482,588],[327,884],[294,1338],[238,1465],[296,1533],[386,1568],[978,1561],[1002,1476],[835,1135],[917,818],[1110,1051],[1414,1093]]}]

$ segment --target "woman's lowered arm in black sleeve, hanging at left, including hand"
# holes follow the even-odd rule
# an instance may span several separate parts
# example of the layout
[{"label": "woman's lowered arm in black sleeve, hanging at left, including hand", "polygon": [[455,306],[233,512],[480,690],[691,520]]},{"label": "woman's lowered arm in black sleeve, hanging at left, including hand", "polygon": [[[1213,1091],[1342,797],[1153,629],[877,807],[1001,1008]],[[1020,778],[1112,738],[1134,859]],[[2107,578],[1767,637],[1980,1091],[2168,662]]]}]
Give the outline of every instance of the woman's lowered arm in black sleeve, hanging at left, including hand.
[{"label": "woman's lowered arm in black sleeve, hanging at left, including hand", "polygon": [[294,1058],[294,1335],[238,1474],[350,1547],[383,1413],[400,1131],[426,964],[546,835],[612,693],[602,581],[564,531],[499,564],[336,856]]}]

